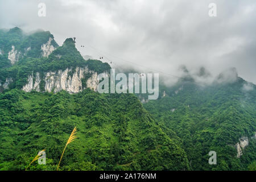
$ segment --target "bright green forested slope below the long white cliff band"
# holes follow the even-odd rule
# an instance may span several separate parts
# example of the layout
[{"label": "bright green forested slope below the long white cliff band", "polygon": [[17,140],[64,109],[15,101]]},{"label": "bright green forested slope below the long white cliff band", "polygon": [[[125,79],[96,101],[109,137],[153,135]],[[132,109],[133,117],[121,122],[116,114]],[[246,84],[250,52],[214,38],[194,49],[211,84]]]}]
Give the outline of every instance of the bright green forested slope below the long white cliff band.
[{"label": "bright green forested slope below the long white cliff band", "polygon": [[0,108],[1,170],[24,170],[43,149],[47,164],[29,169],[56,170],[75,126],[60,170],[189,169],[179,138],[165,134],[133,94],[12,89],[0,94]]}]

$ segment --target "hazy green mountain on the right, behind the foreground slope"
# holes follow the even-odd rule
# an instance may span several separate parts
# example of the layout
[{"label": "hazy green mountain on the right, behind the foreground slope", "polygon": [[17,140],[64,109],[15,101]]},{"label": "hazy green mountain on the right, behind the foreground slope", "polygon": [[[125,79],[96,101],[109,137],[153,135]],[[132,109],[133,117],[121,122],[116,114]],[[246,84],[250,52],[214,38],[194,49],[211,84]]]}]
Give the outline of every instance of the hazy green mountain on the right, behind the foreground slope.
[{"label": "hazy green mountain on the right, behind the foreground slope", "polygon": [[[193,170],[255,168],[256,85],[232,68],[210,85],[180,79],[160,90],[159,100],[143,106],[180,137]],[[209,165],[210,151],[216,151],[217,165]]]}]

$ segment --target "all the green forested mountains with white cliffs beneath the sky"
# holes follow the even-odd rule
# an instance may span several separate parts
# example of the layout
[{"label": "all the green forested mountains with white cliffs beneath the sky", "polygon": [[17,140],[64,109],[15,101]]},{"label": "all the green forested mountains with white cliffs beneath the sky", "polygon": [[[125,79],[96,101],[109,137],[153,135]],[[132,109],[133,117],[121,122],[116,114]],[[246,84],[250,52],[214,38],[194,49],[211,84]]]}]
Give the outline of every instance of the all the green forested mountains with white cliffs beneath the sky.
[{"label": "all the green forested mountains with white cliffs beneath the sky", "polygon": [[59,46],[50,32],[0,30],[0,170],[24,170],[40,150],[46,165],[28,170],[56,170],[74,127],[60,170],[256,169],[255,85],[237,73],[207,85],[187,76],[145,101],[95,92],[109,71],[84,60],[75,38]]}]

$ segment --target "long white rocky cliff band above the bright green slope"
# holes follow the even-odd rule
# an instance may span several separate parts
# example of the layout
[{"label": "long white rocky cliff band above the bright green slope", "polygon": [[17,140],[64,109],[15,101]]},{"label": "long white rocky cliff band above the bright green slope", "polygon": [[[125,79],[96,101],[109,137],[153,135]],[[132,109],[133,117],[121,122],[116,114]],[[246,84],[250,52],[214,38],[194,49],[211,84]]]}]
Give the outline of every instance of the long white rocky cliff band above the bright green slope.
[{"label": "long white rocky cliff band above the bright green slope", "polygon": [[[108,76],[108,73],[104,73]],[[89,70],[87,67],[77,67],[75,71],[71,68],[67,68],[64,71],[47,72],[43,75],[35,73],[28,76],[27,84],[23,86],[25,92],[31,92],[36,90],[38,92],[43,91],[40,84],[44,82],[44,90],[46,92],[59,92],[60,90],[66,90],[69,93],[78,93],[85,88],[90,88],[97,91],[99,83],[98,73]]]}]

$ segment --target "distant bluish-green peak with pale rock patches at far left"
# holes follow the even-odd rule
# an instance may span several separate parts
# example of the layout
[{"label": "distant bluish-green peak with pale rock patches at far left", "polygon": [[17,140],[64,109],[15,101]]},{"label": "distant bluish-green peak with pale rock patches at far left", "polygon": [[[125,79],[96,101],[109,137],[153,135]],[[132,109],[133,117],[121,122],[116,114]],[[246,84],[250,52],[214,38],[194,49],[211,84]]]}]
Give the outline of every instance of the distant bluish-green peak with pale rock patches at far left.
[{"label": "distant bluish-green peak with pale rock patches at far left", "polygon": [[47,57],[57,47],[49,31],[27,35],[18,27],[0,30],[0,68],[10,67],[24,57]]}]

